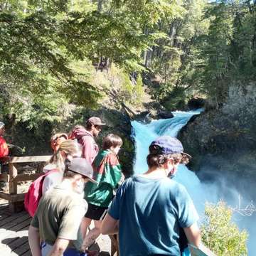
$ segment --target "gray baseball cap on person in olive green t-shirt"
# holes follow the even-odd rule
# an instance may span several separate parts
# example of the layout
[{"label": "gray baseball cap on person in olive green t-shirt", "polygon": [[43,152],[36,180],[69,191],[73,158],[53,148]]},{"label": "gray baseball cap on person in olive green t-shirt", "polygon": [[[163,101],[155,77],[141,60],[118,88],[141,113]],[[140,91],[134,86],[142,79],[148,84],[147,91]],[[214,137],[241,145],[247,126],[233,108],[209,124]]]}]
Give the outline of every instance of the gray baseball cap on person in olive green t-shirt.
[{"label": "gray baseball cap on person in olive green t-shirt", "polygon": [[70,171],[74,171],[77,174],[81,174],[82,176],[85,176],[86,178],[89,178],[89,180],[92,183],[97,183],[95,179],[92,178],[92,166],[89,164],[89,162],[82,158],[82,157],[75,157],[70,161],[70,166],[68,166],[68,169]]}]

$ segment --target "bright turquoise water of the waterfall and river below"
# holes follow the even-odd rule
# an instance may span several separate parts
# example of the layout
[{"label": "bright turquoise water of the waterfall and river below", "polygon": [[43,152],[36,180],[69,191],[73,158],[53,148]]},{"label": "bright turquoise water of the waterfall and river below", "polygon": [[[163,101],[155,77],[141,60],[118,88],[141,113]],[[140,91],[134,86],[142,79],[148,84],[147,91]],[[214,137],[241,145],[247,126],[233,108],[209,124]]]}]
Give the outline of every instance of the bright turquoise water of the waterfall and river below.
[{"label": "bright turquoise water of the waterfall and river below", "polygon": [[[134,161],[134,173],[142,174],[147,170],[146,156],[148,154],[149,144],[161,135],[169,135],[176,137],[178,131],[187,124],[188,120],[194,114],[200,114],[201,110],[191,111],[191,112],[172,112],[174,117],[171,119],[159,119],[150,122],[149,124],[142,124],[137,121],[132,122],[132,127],[134,129],[134,140],[136,144],[136,156]],[[186,149],[184,150],[186,152]],[[227,188],[225,186],[225,191],[220,189],[219,183],[203,183],[201,182],[196,174],[188,170],[186,166],[178,166],[178,171],[174,177],[176,181],[183,184],[191,195],[193,202],[198,210],[199,215],[203,216],[204,206],[206,201],[210,203],[217,203],[220,199],[223,199],[228,203],[229,206],[233,208],[238,207],[238,198],[240,198],[240,193],[235,188]],[[225,181],[221,181],[222,188]],[[245,203],[245,202],[244,202]],[[245,203],[247,206],[247,204]],[[253,214],[253,213],[252,213]],[[256,255],[255,250],[255,238],[256,230],[255,225],[255,215],[245,216],[242,212],[235,213],[233,220],[238,224],[240,228],[245,228],[250,234],[250,238],[247,242],[248,255]],[[254,220],[253,220],[254,219]],[[254,245],[253,245],[254,244]]]}]

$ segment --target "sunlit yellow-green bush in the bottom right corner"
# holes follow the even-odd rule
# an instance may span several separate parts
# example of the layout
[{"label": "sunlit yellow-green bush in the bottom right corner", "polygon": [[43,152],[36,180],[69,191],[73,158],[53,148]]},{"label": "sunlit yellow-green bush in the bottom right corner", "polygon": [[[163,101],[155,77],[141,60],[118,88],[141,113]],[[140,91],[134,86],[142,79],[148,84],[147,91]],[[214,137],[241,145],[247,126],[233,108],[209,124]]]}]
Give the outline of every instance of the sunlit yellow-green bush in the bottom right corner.
[{"label": "sunlit yellow-green bush in the bottom right corner", "polygon": [[223,201],[206,204],[205,220],[201,225],[202,242],[216,255],[247,255],[247,232],[232,223],[233,210]]}]

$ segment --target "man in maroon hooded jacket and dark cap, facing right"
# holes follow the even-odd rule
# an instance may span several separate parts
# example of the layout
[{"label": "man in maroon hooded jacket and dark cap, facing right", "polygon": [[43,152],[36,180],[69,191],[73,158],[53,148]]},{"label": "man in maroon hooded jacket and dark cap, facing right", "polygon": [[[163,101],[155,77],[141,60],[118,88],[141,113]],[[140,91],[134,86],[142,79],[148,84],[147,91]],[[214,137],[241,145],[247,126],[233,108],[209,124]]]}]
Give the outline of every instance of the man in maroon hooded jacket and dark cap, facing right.
[{"label": "man in maroon hooded jacket and dark cap, facing right", "polygon": [[92,164],[99,152],[95,137],[99,135],[102,125],[105,125],[105,123],[102,123],[99,117],[90,117],[87,119],[85,127],[81,125],[75,126],[70,135],[70,139],[77,139],[78,143],[82,145],[82,157],[90,164]]}]

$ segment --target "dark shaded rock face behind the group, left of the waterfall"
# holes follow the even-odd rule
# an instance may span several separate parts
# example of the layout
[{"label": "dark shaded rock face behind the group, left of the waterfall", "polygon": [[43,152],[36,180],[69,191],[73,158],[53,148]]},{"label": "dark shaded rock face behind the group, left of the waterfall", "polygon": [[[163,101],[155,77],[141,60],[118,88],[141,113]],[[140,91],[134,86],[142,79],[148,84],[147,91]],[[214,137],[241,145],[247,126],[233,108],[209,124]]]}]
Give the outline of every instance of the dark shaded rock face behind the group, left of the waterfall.
[{"label": "dark shaded rock face behind the group, left of the waterfall", "polygon": [[[102,107],[99,110],[77,108],[73,114],[61,124],[41,124],[37,129],[28,129],[25,123],[9,123],[6,125],[6,142],[16,144],[24,149],[24,156],[53,154],[50,149],[50,137],[57,132],[70,132],[76,124],[84,125],[89,117],[100,117],[107,125],[102,128],[97,144],[102,146],[102,139],[110,133],[119,135],[123,140],[122,150],[119,152],[119,161],[125,176],[132,174],[134,159],[134,142],[130,135],[132,126],[127,114],[118,110]],[[7,124],[7,123],[6,123]],[[14,155],[17,155],[14,152]]]}]

